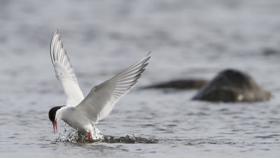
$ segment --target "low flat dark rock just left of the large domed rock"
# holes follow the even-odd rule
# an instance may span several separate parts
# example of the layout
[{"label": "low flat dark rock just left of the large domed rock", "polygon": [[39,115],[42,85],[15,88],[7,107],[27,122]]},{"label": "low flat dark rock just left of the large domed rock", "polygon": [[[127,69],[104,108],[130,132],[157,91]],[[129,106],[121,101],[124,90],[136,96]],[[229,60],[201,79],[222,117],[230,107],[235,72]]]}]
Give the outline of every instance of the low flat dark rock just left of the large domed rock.
[{"label": "low flat dark rock just left of the large domed rock", "polygon": [[149,85],[146,88],[174,88],[174,89],[200,89],[207,81],[201,79],[172,80],[158,85]]}]

